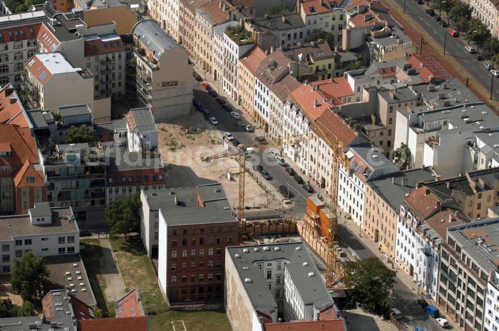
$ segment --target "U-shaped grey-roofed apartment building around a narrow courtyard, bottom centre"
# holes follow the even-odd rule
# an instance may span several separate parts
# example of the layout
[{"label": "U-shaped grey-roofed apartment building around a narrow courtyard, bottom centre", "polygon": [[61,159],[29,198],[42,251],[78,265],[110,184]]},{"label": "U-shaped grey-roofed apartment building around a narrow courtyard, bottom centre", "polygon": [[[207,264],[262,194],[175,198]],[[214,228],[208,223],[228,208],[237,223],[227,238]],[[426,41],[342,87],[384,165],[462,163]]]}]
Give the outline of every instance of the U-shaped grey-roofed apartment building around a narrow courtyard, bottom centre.
[{"label": "U-shaped grey-roofed apartment building around a narrow courtyard, bottom centre", "polygon": [[346,330],[302,242],[228,247],[225,258],[224,304],[234,329],[283,330],[272,328],[301,320],[317,322],[310,324],[313,330],[323,320],[337,320],[338,330]]}]

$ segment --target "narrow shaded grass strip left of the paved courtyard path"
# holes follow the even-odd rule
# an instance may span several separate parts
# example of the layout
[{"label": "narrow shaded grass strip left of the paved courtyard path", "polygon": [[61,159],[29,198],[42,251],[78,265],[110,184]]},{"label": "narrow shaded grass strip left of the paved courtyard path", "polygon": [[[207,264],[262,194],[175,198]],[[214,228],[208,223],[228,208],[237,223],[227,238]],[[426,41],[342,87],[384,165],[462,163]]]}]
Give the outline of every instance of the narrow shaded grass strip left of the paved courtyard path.
[{"label": "narrow shaded grass strip left of the paved courtyard path", "polygon": [[104,282],[99,275],[101,258],[103,255],[100,242],[98,239],[84,239],[80,241],[80,244],[85,246],[84,249],[80,250],[80,254],[83,263],[85,264],[88,280],[92,286],[95,300],[97,301],[97,307],[102,309],[104,317],[108,316],[108,312],[111,313],[110,316],[114,317],[114,302],[107,302],[104,295],[106,282]]}]

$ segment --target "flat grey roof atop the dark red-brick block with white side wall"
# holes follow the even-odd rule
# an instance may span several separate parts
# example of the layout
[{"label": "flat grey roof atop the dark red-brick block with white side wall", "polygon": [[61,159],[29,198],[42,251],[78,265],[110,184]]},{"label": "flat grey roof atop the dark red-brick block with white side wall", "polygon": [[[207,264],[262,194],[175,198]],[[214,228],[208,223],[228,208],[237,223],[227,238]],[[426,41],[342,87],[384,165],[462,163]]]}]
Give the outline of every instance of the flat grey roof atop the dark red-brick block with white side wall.
[{"label": "flat grey roof atop the dark red-brick block with white side wall", "polygon": [[[169,194],[161,194],[161,212],[165,216],[168,225],[183,224],[210,224],[223,222],[237,222],[233,215],[231,203],[227,198],[210,201],[206,207],[198,207],[198,192],[196,187],[169,188]],[[174,203],[177,195],[178,203]],[[225,195],[225,194],[224,194]],[[151,199],[149,199],[151,204]],[[153,202],[157,203],[157,202]]]}]

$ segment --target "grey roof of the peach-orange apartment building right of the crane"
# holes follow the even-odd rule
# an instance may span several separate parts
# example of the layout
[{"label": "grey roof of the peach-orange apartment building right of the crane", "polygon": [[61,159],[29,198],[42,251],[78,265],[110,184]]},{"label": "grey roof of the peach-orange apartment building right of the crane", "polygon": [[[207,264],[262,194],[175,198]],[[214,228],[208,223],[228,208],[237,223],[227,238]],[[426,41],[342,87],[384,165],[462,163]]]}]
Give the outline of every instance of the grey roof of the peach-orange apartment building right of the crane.
[{"label": "grey roof of the peach-orange apartment building right of the crane", "polygon": [[[405,199],[406,193],[416,188],[416,182],[432,181],[435,179],[433,174],[430,167],[416,168],[375,178],[368,181],[367,185],[383,198],[393,210],[397,210]],[[394,182],[392,182],[392,177]],[[402,186],[402,179],[407,179],[404,186]]]}]

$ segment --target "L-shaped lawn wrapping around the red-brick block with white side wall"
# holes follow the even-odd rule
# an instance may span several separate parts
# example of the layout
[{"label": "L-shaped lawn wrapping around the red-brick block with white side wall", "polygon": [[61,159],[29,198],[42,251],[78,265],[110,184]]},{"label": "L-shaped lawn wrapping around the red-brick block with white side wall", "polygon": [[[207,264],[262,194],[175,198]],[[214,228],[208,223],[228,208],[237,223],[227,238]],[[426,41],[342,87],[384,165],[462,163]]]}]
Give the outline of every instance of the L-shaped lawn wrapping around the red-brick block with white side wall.
[{"label": "L-shaped lawn wrapping around the red-brick block with white side wall", "polygon": [[111,246],[127,290],[139,289],[142,305],[149,315],[150,331],[173,331],[172,321],[179,320],[184,321],[187,331],[232,331],[224,312],[169,310],[140,236],[130,237],[128,241],[125,238],[111,240]]}]

